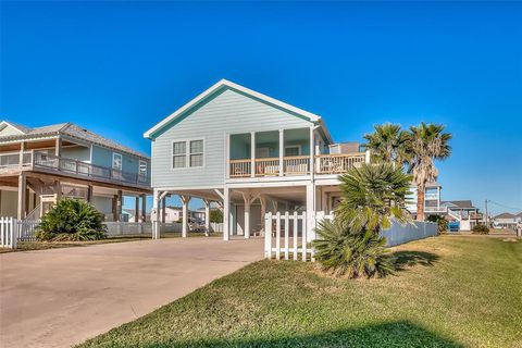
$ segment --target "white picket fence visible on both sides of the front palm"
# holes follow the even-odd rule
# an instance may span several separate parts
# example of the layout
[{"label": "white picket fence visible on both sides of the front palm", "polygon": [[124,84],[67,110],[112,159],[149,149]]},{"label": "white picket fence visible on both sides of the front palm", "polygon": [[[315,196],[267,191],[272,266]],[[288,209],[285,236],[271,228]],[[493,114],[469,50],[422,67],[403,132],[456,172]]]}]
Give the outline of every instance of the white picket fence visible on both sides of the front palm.
[{"label": "white picket fence visible on both sides of the front palm", "polygon": [[[315,239],[315,226],[323,220],[333,220],[334,215],[326,215],[319,211],[311,223],[313,228],[307,231],[307,213],[285,212],[282,214],[265,214],[264,257],[266,259],[314,261],[314,250],[310,241]],[[382,232],[386,237],[386,246],[394,247],[411,240],[423,239],[437,235],[437,224],[433,222],[414,221],[408,224],[394,222],[391,227]]]}]

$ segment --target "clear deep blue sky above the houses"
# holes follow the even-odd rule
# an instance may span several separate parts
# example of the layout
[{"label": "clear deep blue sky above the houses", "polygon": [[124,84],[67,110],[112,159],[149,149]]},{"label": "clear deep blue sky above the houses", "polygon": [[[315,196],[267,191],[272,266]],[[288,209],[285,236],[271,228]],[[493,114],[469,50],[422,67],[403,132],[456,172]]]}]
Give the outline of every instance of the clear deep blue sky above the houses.
[{"label": "clear deep blue sky above the houses", "polygon": [[0,16],[2,119],[150,153],[146,129],[227,78],[322,115],[338,141],[443,123],[443,198],[522,210],[522,3],[2,2]]}]

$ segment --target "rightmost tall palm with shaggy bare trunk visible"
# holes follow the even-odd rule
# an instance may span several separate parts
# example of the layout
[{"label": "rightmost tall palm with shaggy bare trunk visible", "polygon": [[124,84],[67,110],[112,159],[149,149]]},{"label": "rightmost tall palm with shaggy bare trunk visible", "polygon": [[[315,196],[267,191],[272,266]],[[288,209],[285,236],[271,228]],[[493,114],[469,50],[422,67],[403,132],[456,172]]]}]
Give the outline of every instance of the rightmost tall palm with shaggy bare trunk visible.
[{"label": "rightmost tall palm with shaggy bare trunk visible", "polygon": [[410,127],[408,172],[417,185],[417,220],[424,220],[424,192],[427,183],[437,179],[435,160],[447,159],[451,154],[450,133],[444,133],[444,125],[425,124]]}]

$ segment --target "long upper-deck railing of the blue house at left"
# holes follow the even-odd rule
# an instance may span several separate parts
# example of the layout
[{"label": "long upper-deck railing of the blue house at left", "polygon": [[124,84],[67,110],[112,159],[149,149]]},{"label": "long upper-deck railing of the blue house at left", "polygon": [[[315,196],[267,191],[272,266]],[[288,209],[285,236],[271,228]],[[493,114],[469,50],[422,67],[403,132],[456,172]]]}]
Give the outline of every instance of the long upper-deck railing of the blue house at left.
[{"label": "long upper-deck railing of the blue house at left", "polygon": [[22,156],[21,153],[0,154],[0,169],[13,167],[45,169],[94,179],[107,179],[141,186],[149,185],[147,175],[128,173],[39,151],[23,152]]}]

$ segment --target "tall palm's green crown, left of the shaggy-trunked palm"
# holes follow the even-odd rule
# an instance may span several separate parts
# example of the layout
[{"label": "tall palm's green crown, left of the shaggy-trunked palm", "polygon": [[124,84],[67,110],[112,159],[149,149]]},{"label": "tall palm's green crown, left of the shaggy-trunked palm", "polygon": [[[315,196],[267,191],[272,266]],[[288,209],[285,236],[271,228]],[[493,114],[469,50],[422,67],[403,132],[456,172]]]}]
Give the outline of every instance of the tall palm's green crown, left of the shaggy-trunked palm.
[{"label": "tall palm's green crown, left of the shaggy-trunked palm", "polygon": [[408,132],[399,124],[385,123],[374,126],[375,132],[364,135],[368,141],[363,147],[372,152],[376,162],[405,163],[408,160]]}]

